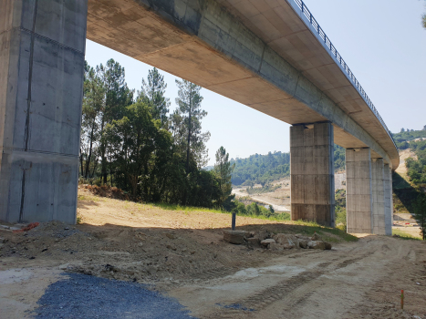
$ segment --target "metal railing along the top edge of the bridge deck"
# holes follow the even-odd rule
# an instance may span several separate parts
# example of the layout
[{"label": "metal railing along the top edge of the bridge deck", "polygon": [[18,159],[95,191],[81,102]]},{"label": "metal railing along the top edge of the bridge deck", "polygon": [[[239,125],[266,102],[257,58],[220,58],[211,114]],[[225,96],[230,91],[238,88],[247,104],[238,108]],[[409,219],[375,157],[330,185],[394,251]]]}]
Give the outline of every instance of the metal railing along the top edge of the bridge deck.
[{"label": "metal railing along the top edge of the bridge deck", "polygon": [[393,140],[393,137],[392,137],[392,134],[391,134],[390,130],[386,126],[383,118],[380,117],[379,111],[374,107],[374,104],[369,99],[369,96],[367,95],[366,91],[359,84],[357,77],[354,76],[354,74],[352,73],[352,71],[350,70],[350,68],[348,67],[348,65],[346,64],[345,60],[338,53],[338,50],[336,49],[336,47],[333,46],[333,44],[331,43],[330,39],[328,38],[328,36],[324,32],[324,30],[317,23],[317,20],[315,19],[315,17],[311,14],[311,12],[309,11],[309,9],[307,9],[307,5],[305,5],[305,3],[302,0],[292,0],[292,1],[294,1],[296,3],[296,5],[301,9],[302,14],[307,17],[307,20],[310,22],[310,24],[317,31],[317,34],[319,35],[319,37],[323,39],[323,41],[325,42],[326,46],[330,50],[331,55],[334,56],[334,57],[336,57],[336,59],[338,60],[338,63],[340,63],[340,66],[348,74],[348,77],[352,81],[352,84],[355,87],[358,88],[359,94],[364,98],[364,100],[366,101],[367,105],[372,110],[372,112],[374,113],[374,115],[376,116],[376,118],[379,119],[381,125],[388,132],[388,134],[390,136],[390,139],[392,139],[392,141],[393,141],[393,144],[395,144],[395,141]]}]

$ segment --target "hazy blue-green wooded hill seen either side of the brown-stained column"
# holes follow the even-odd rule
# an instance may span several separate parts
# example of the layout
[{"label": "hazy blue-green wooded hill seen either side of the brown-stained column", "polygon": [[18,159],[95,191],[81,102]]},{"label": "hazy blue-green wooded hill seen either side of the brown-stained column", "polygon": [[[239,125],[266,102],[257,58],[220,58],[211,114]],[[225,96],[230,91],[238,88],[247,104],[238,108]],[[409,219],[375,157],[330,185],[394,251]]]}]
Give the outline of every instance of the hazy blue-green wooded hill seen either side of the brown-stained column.
[{"label": "hazy blue-green wooded hill seen either side of the brown-stained column", "polygon": [[[335,145],[335,170],[345,170],[345,149]],[[231,160],[235,163],[232,182],[234,185],[250,186],[280,180],[290,176],[290,153],[269,152],[255,154],[247,159]]]}]

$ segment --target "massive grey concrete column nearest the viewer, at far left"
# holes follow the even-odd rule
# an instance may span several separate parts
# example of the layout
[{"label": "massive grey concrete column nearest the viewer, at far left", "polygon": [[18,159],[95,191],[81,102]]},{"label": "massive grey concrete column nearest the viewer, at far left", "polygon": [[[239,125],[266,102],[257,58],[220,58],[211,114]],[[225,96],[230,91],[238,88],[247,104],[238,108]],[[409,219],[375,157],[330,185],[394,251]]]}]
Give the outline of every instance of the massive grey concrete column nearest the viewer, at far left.
[{"label": "massive grey concrete column nearest the viewer, at far left", "polygon": [[76,221],[87,12],[0,1],[0,220]]}]

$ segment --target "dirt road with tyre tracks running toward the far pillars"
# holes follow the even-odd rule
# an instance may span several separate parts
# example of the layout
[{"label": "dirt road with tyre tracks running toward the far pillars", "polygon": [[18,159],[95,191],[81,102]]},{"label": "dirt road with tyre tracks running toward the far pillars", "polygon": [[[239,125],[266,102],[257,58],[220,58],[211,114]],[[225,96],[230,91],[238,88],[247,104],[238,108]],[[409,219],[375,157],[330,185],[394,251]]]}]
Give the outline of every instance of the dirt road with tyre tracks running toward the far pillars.
[{"label": "dirt road with tyre tracks running toward the far pillars", "polygon": [[398,309],[404,289],[406,309],[425,318],[425,259],[421,242],[371,236],[170,293],[203,318],[411,318]]}]

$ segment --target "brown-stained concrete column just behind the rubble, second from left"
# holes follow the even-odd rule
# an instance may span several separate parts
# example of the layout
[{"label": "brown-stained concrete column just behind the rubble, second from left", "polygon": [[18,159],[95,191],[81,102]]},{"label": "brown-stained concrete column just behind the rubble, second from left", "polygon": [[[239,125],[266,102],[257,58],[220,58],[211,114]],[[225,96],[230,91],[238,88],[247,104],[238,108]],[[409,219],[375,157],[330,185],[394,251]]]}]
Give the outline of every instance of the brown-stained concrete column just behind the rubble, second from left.
[{"label": "brown-stained concrete column just behind the rubble, second from left", "polygon": [[331,123],[290,128],[291,219],[335,224],[334,136]]}]

